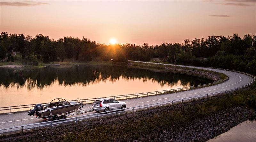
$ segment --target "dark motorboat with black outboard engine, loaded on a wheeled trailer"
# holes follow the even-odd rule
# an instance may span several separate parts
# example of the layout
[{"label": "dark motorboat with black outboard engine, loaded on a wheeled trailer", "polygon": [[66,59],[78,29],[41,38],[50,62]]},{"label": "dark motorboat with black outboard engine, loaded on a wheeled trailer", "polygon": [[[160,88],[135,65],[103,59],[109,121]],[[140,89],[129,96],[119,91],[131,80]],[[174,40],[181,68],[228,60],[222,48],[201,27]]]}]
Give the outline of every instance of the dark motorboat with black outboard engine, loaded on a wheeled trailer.
[{"label": "dark motorboat with black outboard engine, loaded on a wheeled trailer", "polygon": [[65,119],[68,114],[83,108],[83,102],[68,102],[65,99],[57,98],[48,104],[36,104],[33,110],[28,111],[28,115],[36,115],[37,118],[45,120]]}]

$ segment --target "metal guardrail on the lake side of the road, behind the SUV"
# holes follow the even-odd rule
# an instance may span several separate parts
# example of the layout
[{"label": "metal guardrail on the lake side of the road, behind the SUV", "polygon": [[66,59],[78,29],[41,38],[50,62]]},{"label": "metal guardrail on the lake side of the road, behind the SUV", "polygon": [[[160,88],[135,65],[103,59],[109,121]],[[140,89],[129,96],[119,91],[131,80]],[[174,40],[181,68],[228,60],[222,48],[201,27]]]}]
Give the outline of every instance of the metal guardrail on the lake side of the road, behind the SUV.
[{"label": "metal guardrail on the lake side of the road, behind the SUV", "polygon": [[[222,73],[222,74],[225,74],[225,73]],[[225,75],[227,75],[227,74],[225,74]],[[169,90],[137,93],[137,94],[107,96],[106,98],[128,99],[128,98],[136,98],[136,97],[138,98],[138,97],[142,97],[142,96],[167,94],[167,93],[172,93],[172,92],[184,91],[184,90],[188,90],[188,89],[196,89],[196,88],[206,87],[206,86],[210,86],[210,85],[214,85],[214,84],[219,84],[221,82],[227,81],[228,79],[229,79],[229,77],[227,75],[227,78],[225,78],[223,80],[220,80],[218,82],[207,83],[207,84],[203,84],[203,85],[189,86],[189,87],[178,88],[178,89],[169,89]],[[105,97],[103,97],[103,98],[105,98]],[[98,99],[98,98],[80,99],[79,101],[81,101],[83,103],[86,102],[85,104],[87,104],[87,103],[92,103],[95,99]],[[69,100],[69,102],[71,102],[71,101],[77,101],[77,100]],[[41,103],[41,104],[48,104],[48,103]],[[26,104],[26,105],[18,105],[18,106],[0,107],[0,113],[1,113],[1,111],[4,111],[4,110],[9,110],[9,113],[11,113],[11,110],[24,109],[24,108],[32,108],[33,109],[35,105],[36,104]],[[15,111],[13,111],[13,112],[15,112]],[[4,112],[4,113],[8,113],[8,112]]]}]

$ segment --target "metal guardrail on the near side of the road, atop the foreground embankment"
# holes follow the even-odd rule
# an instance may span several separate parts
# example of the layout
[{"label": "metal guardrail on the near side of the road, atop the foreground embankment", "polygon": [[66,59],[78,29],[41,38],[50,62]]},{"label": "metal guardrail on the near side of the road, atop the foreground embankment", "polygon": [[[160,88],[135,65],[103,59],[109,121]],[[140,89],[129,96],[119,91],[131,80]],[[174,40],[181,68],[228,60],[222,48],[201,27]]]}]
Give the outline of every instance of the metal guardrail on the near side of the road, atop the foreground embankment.
[{"label": "metal guardrail on the near side of the road, atop the foreground embankment", "polygon": [[[252,76],[252,75],[250,75]],[[28,125],[22,125],[22,126],[16,126],[16,127],[11,127],[11,128],[4,128],[0,129],[0,135],[2,134],[8,134],[8,133],[15,133],[15,132],[24,132],[24,131],[29,131],[29,130],[36,130],[36,129],[42,129],[46,127],[53,127],[56,125],[60,124],[68,124],[68,123],[77,123],[79,121],[85,121],[85,120],[91,120],[91,119],[99,119],[100,117],[108,117],[108,116],[114,116],[114,115],[119,115],[119,114],[124,114],[124,113],[134,113],[134,111],[137,110],[145,110],[145,109],[150,109],[152,107],[162,107],[164,105],[172,105],[176,103],[185,103],[197,99],[203,99],[203,98],[208,98],[210,96],[217,96],[221,94],[227,94],[231,93],[240,89],[244,89],[248,86],[250,86],[254,81],[255,77],[253,77],[253,80],[251,83],[244,85],[242,87],[237,87],[234,89],[229,89],[225,91],[220,91],[220,92],[215,92],[211,94],[204,94],[204,95],[199,95],[199,96],[193,96],[193,97],[187,97],[187,98],[182,98],[182,99],[176,99],[176,100],[171,100],[171,101],[165,101],[165,102],[160,102],[160,103],[152,103],[152,104],[147,104],[147,105],[141,105],[141,106],[136,106],[136,107],[130,107],[130,108],[125,108],[123,111],[119,110],[112,110],[106,112],[100,112],[100,113],[94,113],[94,114],[89,114],[89,115],[84,115],[84,116],[78,116],[78,117],[72,117],[72,118],[66,118],[63,120],[66,121],[60,121],[60,120],[54,120],[54,121],[49,121],[49,122],[42,122],[42,123],[36,123],[36,124],[28,124]],[[120,109],[122,110],[122,109]],[[60,121],[60,122],[59,122]]]}]

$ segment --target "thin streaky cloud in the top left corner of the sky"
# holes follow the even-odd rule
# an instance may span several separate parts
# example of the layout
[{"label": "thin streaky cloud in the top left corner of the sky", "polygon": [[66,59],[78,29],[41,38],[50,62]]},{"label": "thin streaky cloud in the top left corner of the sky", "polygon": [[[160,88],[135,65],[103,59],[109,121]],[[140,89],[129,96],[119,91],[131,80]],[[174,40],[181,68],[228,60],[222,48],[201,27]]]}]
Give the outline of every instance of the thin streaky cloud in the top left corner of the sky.
[{"label": "thin streaky cloud in the top left corner of the sky", "polygon": [[48,3],[34,2],[34,1],[22,1],[22,2],[0,2],[0,6],[36,6]]}]

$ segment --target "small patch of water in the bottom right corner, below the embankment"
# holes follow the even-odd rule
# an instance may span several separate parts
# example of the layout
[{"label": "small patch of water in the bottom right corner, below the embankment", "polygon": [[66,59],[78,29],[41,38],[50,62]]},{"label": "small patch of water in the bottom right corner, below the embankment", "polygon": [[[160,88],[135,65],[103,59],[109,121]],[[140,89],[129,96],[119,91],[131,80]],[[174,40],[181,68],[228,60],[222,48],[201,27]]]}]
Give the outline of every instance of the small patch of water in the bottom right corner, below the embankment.
[{"label": "small patch of water in the bottom right corner, below the embankment", "polygon": [[244,121],[207,142],[255,142],[256,121]]}]

